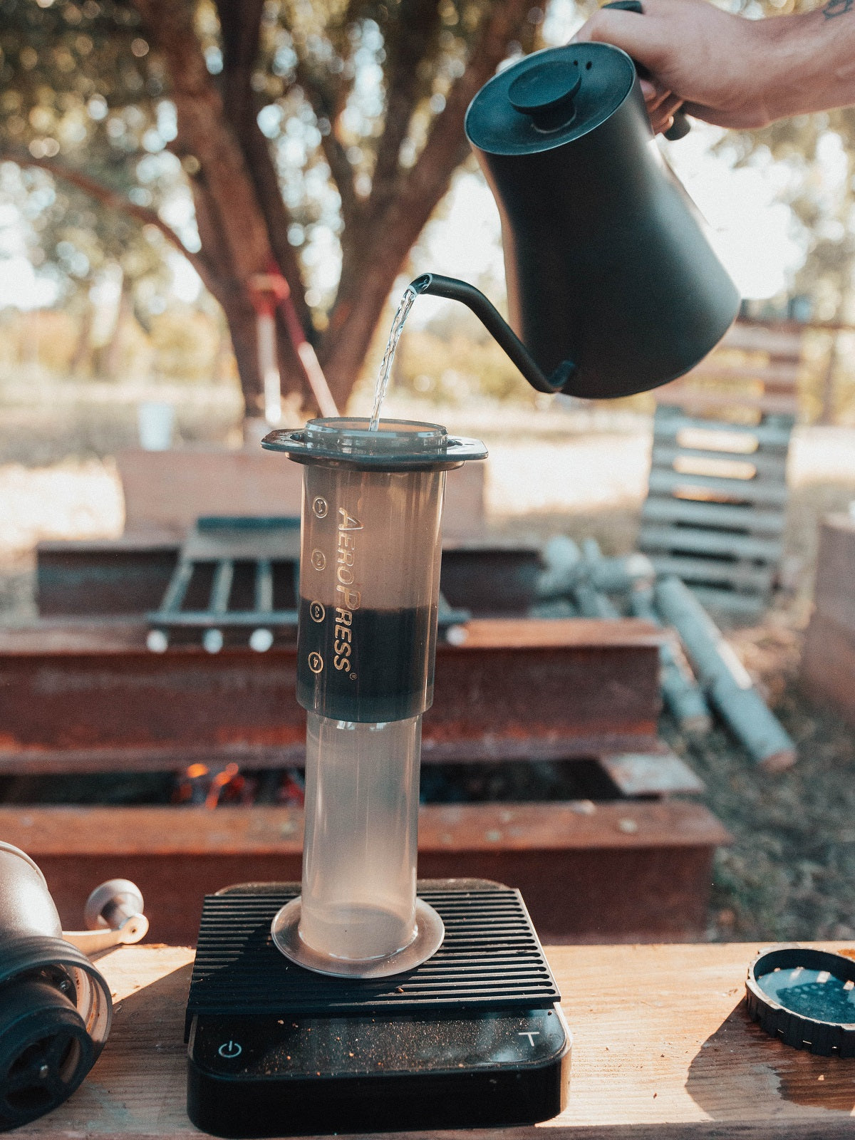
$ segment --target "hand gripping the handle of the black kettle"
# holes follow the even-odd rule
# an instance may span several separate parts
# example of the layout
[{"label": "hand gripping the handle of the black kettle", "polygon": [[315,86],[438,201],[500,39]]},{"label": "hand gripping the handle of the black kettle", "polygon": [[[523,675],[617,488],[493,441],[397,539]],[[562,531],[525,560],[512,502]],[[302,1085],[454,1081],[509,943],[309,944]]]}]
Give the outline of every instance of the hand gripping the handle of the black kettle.
[{"label": "hand gripping the handle of the black kettle", "polygon": [[799,17],[746,19],[707,0],[643,3],[643,15],[601,9],[573,42],[612,43],[648,70],[650,78],[641,85],[654,132],[667,131],[681,106],[719,127],[750,129],[775,117],[771,49]]}]

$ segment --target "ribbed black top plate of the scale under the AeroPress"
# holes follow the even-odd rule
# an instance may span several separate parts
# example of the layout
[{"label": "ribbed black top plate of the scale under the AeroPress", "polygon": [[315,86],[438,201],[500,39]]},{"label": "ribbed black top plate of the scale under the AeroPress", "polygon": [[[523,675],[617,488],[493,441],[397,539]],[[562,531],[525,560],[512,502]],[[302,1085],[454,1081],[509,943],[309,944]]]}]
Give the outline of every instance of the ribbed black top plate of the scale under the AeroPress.
[{"label": "ribbed black top plate of the scale under the AeroPress", "polygon": [[288,962],[270,922],[296,883],[209,895],[187,1005],[194,1013],[350,1013],[545,1009],[560,993],[519,890],[484,880],[425,881],[420,897],[446,926],[442,946],[409,974],[331,978]]}]

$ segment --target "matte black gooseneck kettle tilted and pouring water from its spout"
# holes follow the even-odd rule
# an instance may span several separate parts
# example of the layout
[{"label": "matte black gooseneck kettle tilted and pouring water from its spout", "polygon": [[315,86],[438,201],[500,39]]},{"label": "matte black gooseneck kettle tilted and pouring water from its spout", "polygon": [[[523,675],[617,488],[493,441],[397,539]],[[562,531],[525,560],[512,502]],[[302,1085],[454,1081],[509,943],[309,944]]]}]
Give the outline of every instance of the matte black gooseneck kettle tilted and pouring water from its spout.
[{"label": "matte black gooseneck kettle tilted and pouring water from its spout", "polygon": [[659,150],[629,56],[604,43],[527,56],[475,95],[466,135],[502,217],[515,332],[465,282],[424,274],[416,292],[467,304],[543,392],[632,396],[718,343],[740,296]]}]

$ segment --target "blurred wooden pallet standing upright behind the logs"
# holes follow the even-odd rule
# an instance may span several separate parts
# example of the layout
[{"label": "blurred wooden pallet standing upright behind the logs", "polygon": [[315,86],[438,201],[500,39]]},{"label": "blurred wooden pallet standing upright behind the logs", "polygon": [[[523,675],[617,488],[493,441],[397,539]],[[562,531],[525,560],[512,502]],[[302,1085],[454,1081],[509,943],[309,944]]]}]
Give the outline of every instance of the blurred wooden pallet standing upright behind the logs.
[{"label": "blurred wooden pallet standing upright behind the logs", "polygon": [[738,325],[722,350],[657,393],[638,546],[706,605],[749,616],[768,604],[783,551],[800,337]]}]

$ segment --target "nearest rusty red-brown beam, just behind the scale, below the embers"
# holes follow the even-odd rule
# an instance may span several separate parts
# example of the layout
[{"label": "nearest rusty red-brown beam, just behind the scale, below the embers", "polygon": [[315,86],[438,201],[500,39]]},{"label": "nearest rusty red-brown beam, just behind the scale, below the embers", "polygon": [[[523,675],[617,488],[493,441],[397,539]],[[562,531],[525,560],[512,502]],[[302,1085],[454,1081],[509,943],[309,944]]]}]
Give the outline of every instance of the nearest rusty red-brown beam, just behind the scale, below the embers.
[{"label": "nearest rusty red-brown beam, just behind the scale, below the embers", "polygon": [[[36,860],[66,929],[92,887],[116,874],[142,891],[153,938],[187,942],[204,894],[300,878],[296,809],[0,811],[0,834]],[[676,800],[429,805],[420,811],[418,866],[426,878],[519,887],[539,929],[556,939],[695,939],[707,922],[712,853],[727,841],[706,807]]]}]

